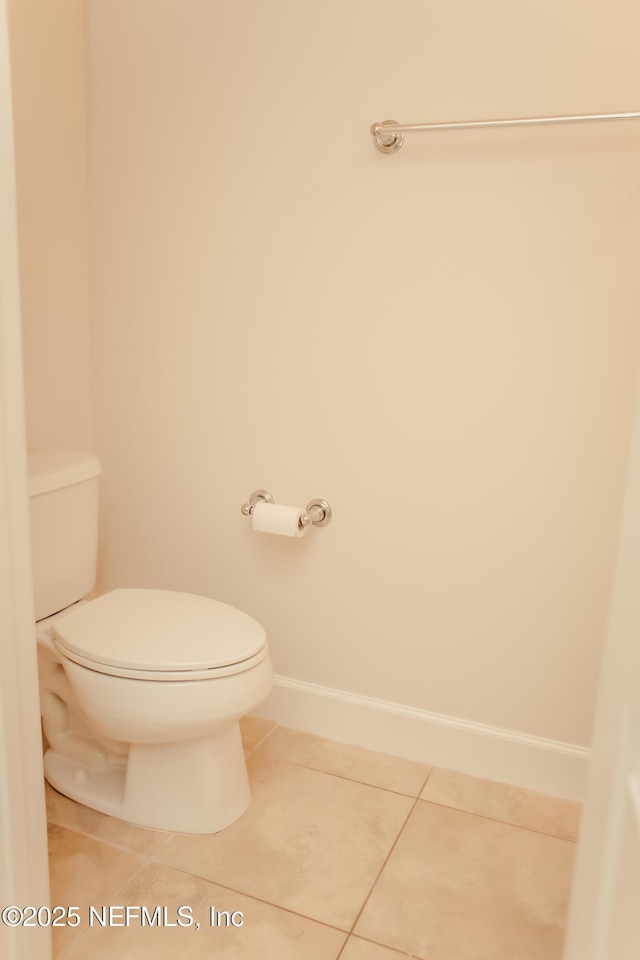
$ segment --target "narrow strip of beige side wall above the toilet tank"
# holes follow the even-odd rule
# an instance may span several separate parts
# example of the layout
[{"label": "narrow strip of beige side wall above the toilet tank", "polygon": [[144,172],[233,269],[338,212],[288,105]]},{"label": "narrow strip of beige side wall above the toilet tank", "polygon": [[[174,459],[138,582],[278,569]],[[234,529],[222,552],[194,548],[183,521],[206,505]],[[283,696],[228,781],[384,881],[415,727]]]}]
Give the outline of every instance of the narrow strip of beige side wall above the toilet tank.
[{"label": "narrow strip of beige side wall above the toilet tank", "polygon": [[91,443],[83,0],[9,0],[30,449]]}]

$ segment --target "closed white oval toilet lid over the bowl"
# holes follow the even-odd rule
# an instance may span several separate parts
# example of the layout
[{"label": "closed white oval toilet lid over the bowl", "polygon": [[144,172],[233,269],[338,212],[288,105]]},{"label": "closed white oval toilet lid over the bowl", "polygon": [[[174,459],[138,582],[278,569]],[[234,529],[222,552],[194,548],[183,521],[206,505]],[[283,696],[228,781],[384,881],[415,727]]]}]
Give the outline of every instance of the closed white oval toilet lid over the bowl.
[{"label": "closed white oval toilet lid over the bowl", "polygon": [[168,590],[113,590],[57,619],[53,632],[63,652],[85,662],[154,672],[228,667],[266,643],[241,610]]}]

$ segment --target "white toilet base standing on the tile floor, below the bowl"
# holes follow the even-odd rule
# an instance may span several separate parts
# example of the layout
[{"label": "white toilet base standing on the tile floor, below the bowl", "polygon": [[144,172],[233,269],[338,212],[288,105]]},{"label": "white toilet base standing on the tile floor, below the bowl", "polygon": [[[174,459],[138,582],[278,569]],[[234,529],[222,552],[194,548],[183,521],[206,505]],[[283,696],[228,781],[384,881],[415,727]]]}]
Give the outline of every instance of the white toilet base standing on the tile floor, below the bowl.
[{"label": "white toilet base standing on the tile floor, below the bowl", "polygon": [[49,749],[44,771],[52,787],[84,806],[172,833],[218,833],[251,799],[237,720],[197,740],[131,744],[126,765],[106,769]]}]

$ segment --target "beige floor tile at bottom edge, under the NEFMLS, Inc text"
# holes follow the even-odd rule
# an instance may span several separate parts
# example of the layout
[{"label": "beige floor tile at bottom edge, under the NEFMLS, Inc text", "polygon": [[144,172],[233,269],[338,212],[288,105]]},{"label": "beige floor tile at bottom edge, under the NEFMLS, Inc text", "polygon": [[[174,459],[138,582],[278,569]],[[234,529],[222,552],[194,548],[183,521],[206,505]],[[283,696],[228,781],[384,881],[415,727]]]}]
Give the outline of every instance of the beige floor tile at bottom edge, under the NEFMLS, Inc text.
[{"label": "beige floor tile at bottom edge, under the NEFMLS, Inc text", "polygon": [[[159,917],[177,923],[178,907],[189,927],[143,926],[140,911],[127,926],[93,927],[60,960],[335,960],[345,934],[163,864],[147,864],[118,897],[118,907],[166,907]],[[211,925],[211,908],[215,925]],[[229,916],[227,920],[224,916]],[[124,924],[124,909],[116,915]],[[235,921],[233,925],[230,920]],[[199,928],[196,929],[196,924]],[[227,925],[228,924],[228,925]]]}]

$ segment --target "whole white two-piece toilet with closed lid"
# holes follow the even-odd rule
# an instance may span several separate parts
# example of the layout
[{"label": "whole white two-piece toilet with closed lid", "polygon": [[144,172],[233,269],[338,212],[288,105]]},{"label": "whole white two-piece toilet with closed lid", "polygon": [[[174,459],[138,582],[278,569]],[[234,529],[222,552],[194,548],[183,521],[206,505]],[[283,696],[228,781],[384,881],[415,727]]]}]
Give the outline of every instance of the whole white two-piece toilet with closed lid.
[{"label": "whole white two-piece toilet with closed lid", "polygon": [[263,628],[208,597],[94,586],[99,461],[29,455],[47,780],[131,823],[215,833],[249,804],[240,717],[269,693]]}]

